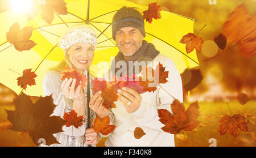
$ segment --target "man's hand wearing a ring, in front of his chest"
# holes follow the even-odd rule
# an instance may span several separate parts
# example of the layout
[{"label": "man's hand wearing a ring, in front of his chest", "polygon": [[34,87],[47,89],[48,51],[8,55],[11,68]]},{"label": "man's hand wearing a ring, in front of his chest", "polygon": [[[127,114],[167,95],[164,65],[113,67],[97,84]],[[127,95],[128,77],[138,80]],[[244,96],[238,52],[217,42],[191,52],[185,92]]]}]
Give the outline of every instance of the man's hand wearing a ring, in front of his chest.
[{"label": "man's hand wearing a ring, in front of his chest", "polygon": [[123,87],[122,89],[118,89],[117,92],[119,96],[118,100],[125,106],[127,113],[133,113],[141,106],[142,97],[134,89]]}]

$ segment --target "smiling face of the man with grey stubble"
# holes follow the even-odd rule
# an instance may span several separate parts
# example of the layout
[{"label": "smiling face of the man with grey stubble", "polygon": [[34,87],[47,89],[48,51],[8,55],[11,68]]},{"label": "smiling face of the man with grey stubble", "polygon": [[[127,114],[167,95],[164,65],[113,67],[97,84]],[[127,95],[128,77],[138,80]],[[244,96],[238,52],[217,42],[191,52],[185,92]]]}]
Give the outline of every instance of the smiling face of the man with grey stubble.
[{"label": "smiling face of the man with grey stubble", "polygon": [[117,47],[123,55],[129,57],[142,46],[141,31],[134,27],[123,27],[115,33]]}]

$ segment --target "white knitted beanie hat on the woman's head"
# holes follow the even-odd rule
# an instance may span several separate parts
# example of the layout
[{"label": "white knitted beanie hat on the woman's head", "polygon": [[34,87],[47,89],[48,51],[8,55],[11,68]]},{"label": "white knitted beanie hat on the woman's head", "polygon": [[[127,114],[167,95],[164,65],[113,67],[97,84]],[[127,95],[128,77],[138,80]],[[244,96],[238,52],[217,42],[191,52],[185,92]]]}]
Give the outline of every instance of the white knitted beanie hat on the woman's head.
[{"label": "white knitted beanie hat on the woman's head", "polygon": [[78,42],[88,42],[96,48],[96,32],[94,32],[88,24],[73,25],[60,37],[60,48],[66,51],[69,47]]}]

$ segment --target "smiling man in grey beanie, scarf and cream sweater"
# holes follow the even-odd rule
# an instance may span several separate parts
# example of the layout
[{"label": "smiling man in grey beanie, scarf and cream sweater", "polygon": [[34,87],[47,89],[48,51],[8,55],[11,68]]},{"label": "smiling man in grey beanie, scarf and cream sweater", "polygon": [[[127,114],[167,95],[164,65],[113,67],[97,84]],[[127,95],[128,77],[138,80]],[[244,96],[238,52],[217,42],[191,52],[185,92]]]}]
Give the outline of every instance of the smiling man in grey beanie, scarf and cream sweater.
[{"label": "smiling man in grey beanie, scarf and cream sweater", "polygon": [[[168,82],[158,85],[154,92],[139,94],[134,89],[124,87],[118,89],[118,101],[115,101],[117,108],[110,109],[109,113],[95,111],[101,117],[109,115],[110,122],[115,125],[113,133],[107,135],[109,138],[105,146],[175,146],[174,134],[166,133],[161,129],[164,125],[159,121],[157,110],[167,109],[171,112],[170,105],[174,98],[169,94],[183,102],[181,77],[174,62],[171,58],[160,54],[153,44],[143,40],[146,36],[144,20],[141,13],[134,8],[122,7],[116,12],[112,31],[119,53],[105,75],[106,80],[112,80],[112,76],[138,74],[137,72],[141,72],[141,65],[135,64],[136,62],[146,65],[151,63],[151,66],[160,62],[169,73]],[[94,109],[100,107],[98,104],[101,100],[102,97],[98,92],[92,97],[91,101],[95,103]],[[139,139],[134,136],[136,127],[140,127],[146,133]]]}]

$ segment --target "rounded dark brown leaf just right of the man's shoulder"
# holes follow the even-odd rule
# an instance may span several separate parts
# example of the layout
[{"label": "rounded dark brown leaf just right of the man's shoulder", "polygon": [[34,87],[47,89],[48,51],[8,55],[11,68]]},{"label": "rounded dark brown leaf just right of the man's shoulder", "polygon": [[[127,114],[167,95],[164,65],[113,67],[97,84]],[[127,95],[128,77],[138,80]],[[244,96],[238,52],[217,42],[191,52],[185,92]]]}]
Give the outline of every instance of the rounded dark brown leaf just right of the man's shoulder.
[{"label": "rounded dark brown leaf just right of the man's shoulder", "polygon": [[185,69],[181,74],[181,80],[183,88],[186,91],[191,91],[200,84],[203,80],[203,75],[201,74],[200,69]]}]

